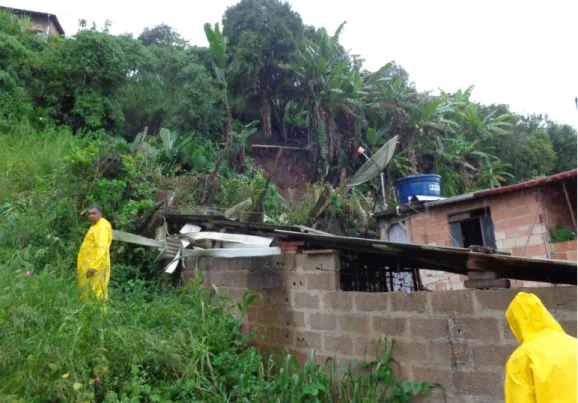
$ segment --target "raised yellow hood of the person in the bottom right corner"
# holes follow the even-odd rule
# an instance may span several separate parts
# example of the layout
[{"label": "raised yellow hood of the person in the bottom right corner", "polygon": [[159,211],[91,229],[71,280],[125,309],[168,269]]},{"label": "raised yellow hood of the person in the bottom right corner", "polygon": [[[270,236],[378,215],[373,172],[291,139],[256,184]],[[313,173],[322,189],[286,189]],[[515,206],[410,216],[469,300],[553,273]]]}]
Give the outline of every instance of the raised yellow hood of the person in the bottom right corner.
[{"label": "raised yellow hood of the person in the bottom right corner", "polygon": [[519,292],[506,311],[506,319],[520,344],[544,330],[564,333],[560,324],[534,294]]}]

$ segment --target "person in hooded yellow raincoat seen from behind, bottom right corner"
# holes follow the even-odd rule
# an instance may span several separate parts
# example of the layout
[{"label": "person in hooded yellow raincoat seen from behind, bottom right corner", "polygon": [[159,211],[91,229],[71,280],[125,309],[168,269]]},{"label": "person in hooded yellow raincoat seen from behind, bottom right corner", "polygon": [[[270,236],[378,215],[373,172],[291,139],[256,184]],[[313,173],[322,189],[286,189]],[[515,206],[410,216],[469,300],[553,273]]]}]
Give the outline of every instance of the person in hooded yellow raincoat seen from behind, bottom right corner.
[{"label": "person in hooded yellow raincoat seen from behind, bottom right corner", "polygon": [[534,294],[518,293],[506,319],[521,346],[506,364],[505,402],[576,402],[576,338]]}]

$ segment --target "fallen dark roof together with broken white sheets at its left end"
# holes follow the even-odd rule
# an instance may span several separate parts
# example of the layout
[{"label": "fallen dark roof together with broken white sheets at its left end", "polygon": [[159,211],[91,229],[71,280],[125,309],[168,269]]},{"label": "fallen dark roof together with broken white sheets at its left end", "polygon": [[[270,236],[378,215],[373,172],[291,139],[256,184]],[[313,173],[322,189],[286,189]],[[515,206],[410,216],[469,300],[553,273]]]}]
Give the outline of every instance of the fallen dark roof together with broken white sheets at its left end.
[{"label": "fallen dark roof together with broken white sheets at its left end", "polygon": [[164,219],[164,239],[154,240],[122,231],[113,231],[113,239],[159,249],[156,261],[170,260],[165,268],[167,273],[174,272],[181,259],[275,256],[281,254],[283,244],[299,242],[304,252],[331,249],[375,255],[375,259],[378,259],[376,262],[382,266],[438,270],[472,275],[472,278],[477,273],[491,274],[484,274],[482,280],[477,280],[480,284],[499,279],[577,283],[576,262],[572,261],[514,257],[483,248],[464,249],[351,238],[304,226],[247,223],[223,216],[165,213]]}]

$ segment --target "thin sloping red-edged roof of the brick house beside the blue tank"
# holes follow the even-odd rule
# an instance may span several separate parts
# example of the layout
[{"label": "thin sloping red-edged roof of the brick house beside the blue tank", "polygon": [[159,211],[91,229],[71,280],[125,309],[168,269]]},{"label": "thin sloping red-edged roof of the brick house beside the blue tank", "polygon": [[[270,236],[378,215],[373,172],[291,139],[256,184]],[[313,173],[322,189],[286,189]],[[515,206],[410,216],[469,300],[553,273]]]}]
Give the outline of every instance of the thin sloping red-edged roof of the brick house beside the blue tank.
[{"label": "thin sloping red-edged roof of the brick house beside the blue tank", "polygon": [[503,195],[505,193],[516,192],[516,191],[519,191],[522,189],[528,189],[528,188],[533,188],[533,187],[537,187],[537,186],[544,186],[544,185],[549,185],[552,183],[562,182],[562,181],[569,179],[569,178],[576,178],[577,175],[578,175],[578,170],[574,169],[572,171],[562,172],[562,173],[555,174],[552,176],[547,176],[545,178],[540,178],[540,179],[536,179],[536,180],[532,180],[532,181],[528,181],[528,182],[522,182],[522,183],[518,183],[515,185],[510,185],[510,186],[504,186],[504,187],[497,188],[497,189],[486,189],[486,190],[480,190],[479,192],[464,193],[462,195],[452,196],[452,197],[448,197],[446,199],[440,199],[440,200],[434,200],[434,201],[425,200],[425,201],[412,202],[411,204],[406,203],[406,204],[402,204],[402,205],[398,206],[397,208],[392,208],[392,209],[388,209],[386,211],[377,212],[373,216],[375,218],[388,217],[388,216],[393,216],[393,215],[401,214],[401,213],[409,213],[409,212],[418,210],[420,208],[421,209],[423,209],[423,208],[432,209],[432,208],[436,208],[438,206],[445,206],[448,204],[460,203],[460,202],[464,202],[464,201],[468,201],[468,200],[484,199],[484,198],[488,198],[488,197]]}]

